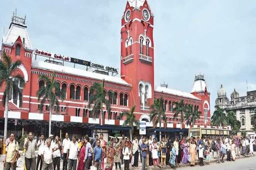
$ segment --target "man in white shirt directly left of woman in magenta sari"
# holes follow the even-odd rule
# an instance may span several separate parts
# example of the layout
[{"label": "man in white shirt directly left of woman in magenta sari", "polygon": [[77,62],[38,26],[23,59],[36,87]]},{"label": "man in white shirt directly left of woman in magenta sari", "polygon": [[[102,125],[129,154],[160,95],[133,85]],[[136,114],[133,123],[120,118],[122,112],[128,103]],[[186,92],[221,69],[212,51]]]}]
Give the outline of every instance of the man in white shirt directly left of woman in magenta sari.
[{"label": "man in white shirt directly left of woman in magenta sari", "polygon": [[68,169],[76,170],[77,156],[79,152],[79,144],[76,141],[76,135],[72,135],[72,141],[70,142],[69,149],[67,152]]}]

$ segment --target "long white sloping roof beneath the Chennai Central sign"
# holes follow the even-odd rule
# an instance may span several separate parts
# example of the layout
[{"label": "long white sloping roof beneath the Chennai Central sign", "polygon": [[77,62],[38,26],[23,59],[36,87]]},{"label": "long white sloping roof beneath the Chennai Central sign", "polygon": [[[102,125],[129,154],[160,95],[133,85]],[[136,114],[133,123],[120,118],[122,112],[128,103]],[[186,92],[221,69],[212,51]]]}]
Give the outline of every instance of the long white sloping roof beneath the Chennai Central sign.
[{"label": "long white sloping roof beneath the Chennai Central sign", "polygon": [[105,81],[108,81],[108,82],[131,86],[130,84],[128,84],[126,81],[124,81],[120,77],[113,77],[113,76],[109,76],[109,75],[93,73],[93,72],[78,69],[78,68],[72,68],[72,67],[68,67],[68,66],[62,66],[62,65],[47,63],[47,62],[43,62],[43,61],[33,60],[32,67],[66,73],[66,74],[72,74],[72,75],[81,76],[81,77],[88,77],[88,78],[97,79],[97,80],[105,79]]}]

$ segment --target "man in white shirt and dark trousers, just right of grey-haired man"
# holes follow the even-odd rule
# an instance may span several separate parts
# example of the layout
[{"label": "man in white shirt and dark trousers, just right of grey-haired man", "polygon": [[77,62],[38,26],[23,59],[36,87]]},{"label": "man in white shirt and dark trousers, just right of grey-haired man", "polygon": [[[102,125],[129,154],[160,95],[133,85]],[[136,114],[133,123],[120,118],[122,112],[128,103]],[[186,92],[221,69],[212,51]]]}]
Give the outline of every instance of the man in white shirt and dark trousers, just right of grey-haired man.
[{"label": "man in white shirt and dark trousers, just right of grey-haired man", "polygon": [[55,143],[52,148],[52,160],[53,160],[53,169],[55,170],[57,166],[57,170],[60,170],[60,149],[61,149],[61,144],[59,141],[59,136],[55,136]]}]

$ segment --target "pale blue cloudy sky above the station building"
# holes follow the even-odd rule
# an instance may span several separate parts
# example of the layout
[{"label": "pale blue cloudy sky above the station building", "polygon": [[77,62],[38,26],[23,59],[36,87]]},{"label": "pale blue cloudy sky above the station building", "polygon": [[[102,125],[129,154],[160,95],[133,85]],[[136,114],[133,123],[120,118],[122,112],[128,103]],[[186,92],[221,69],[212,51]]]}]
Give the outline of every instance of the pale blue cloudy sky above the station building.
[{"label": "pale blue cloudy sky above the station building", "polygon": [[[211,114],[221,84],[229,99],[234,88],[246,95],[246,80],[248,91],[256,90],[256,1],[147,1],[154,14],[155,86],[190,92],[195,74],[204,74]],[[26,14],[33,48],[120,68],[126,2],[3,1],[0,35],[17,8],[17,16]]]}]

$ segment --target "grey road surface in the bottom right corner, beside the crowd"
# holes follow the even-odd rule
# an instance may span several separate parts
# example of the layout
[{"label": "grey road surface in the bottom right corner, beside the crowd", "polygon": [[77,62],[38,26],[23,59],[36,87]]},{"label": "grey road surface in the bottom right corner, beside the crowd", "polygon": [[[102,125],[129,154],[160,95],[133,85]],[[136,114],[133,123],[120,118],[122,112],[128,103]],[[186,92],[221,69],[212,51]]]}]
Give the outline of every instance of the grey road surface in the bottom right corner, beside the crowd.
[{"label": "grey road surface in the bottom right corner, beside the crowd", "polygon": [[256,157],[248,157],[243,159],[237,159],[233,162],[224,162],[224,163],[210,163],[200,167],[199,165],[194,167],[183,167],[176,168],[179,170],[256,170]]}]

